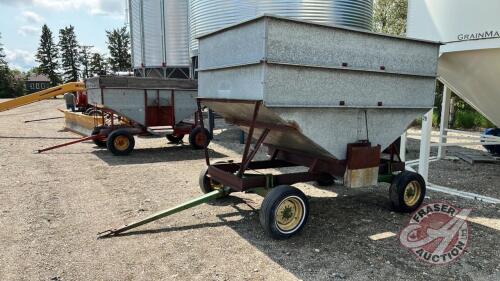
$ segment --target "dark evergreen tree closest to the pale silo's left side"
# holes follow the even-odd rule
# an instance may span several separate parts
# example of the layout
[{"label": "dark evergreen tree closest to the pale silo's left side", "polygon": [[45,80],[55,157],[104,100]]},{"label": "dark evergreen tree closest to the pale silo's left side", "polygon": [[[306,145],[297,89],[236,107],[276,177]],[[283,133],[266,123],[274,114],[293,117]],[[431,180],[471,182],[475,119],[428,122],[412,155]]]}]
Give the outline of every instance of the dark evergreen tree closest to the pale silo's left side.
[{"label": "dark evergreen tree closest to the pale silo's left side", "polygon": [[130,62],[130,36],[127,27],[106,31],[108,37],[109,64],[113,71],[128,71]]}]

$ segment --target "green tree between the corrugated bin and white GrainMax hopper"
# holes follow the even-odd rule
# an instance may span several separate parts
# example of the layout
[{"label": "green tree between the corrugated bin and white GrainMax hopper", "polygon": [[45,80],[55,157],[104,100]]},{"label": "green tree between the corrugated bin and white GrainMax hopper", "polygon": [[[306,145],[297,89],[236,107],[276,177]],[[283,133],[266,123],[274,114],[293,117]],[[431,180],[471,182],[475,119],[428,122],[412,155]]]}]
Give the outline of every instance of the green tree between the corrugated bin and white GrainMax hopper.
[{"label": "green tree between the corrugated bin and white GrainMax hopper", "polygon": [[377,32],[393,35],[406,33],[406,14],[408,0],[375,1],[373,21]]}]

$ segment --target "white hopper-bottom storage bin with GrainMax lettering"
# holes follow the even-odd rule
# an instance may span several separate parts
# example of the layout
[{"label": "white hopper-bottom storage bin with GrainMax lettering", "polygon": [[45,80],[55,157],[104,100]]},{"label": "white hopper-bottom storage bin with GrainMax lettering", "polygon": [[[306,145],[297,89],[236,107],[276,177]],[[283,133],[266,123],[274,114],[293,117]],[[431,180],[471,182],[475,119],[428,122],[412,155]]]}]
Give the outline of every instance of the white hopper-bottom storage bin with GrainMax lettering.
[{"label": "white hopper-bottom storage bin with GrainMax lettering", "polygon": [[409,37],[437,40],[439,79],[500,126],[499,0],[410,0]]}]

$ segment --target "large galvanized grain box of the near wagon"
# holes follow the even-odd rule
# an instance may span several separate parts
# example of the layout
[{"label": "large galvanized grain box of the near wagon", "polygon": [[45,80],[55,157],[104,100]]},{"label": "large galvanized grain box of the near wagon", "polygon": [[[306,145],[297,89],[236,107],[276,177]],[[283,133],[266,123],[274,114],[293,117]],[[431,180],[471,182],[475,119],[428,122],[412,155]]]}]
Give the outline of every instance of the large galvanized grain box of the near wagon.
[{"label": "large galvanized grain box of the near wagon", "polygon": [[[360,140],[384,149],[434,104],[436,42],[264,15],[202,36],[199,50],[199,97],[262,100],[259,121],[299,129],[266,143],[312,155],[345,159]],[[252,118],[252,105],[204,104]]]}]

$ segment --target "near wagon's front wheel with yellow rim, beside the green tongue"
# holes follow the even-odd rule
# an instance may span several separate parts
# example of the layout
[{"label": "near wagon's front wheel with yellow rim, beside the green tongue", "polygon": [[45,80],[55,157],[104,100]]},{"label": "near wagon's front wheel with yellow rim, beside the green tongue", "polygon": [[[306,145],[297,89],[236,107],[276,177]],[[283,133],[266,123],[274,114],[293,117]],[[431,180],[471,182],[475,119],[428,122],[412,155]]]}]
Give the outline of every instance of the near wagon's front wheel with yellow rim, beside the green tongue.
[{"label": "near wagon's front wheel with yellow rim, beside the green tongue", "polygon": [[286,239],[304,228],[309,215],[307,197],[299,189],[280,185],[264,198],[260,224],[271,237]]}]

